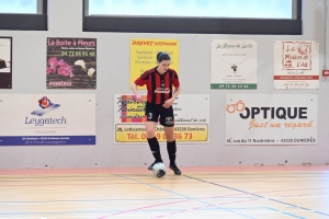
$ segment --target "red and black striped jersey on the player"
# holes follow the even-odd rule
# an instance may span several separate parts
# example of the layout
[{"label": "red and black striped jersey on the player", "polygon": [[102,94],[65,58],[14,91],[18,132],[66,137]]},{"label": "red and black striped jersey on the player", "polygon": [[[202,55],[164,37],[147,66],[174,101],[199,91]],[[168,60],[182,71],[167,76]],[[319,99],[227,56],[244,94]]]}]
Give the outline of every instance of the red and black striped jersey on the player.
[{"label": "red and black striped jersey on the player", "polygon": [[144,72],[136,81],[136,85],[147,88],[147,101],[152,104],[163,104],[172,97],[172,85],[180,87],[177,72],[168,69],[163,74],[157,71],[157,67]]}]

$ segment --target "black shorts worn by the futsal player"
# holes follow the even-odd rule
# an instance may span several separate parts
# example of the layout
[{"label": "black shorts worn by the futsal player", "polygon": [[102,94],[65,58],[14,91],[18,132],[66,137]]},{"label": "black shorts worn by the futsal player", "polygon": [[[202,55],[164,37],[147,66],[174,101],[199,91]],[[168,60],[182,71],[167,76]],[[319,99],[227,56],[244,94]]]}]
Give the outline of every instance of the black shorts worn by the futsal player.
[{"label": "black shorts worn by the futsal player", "polygon": [[[159,119],[160,116],[160,119]],[[162,105],[146,103],[145,107],[146,120],[160,122],[162,126],[172,127],[174,125],[172,106],[164,108]]]}]

